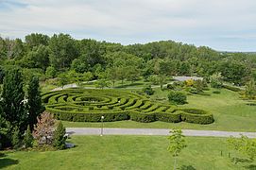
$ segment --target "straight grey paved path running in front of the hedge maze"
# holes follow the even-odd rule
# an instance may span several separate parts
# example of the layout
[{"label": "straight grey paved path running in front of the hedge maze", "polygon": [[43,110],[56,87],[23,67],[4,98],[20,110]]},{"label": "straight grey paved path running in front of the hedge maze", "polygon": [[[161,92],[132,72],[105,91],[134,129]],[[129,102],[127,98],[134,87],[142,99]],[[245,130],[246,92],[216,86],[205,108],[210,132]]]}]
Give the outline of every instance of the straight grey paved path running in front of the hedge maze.
[{"label": "straight grey paved path running in front of the hedge maze", "polygon": [[[67,133],[72,135],[100,135],[101,128],[67,127]],[[167,128],[103,128],[104,135],[169,135]],[[256,138],[256,132],[234,132],[216,130],[182,129],[185,136],[214,136],[214,137],[240,137],[244,134],[249,138]]]}]

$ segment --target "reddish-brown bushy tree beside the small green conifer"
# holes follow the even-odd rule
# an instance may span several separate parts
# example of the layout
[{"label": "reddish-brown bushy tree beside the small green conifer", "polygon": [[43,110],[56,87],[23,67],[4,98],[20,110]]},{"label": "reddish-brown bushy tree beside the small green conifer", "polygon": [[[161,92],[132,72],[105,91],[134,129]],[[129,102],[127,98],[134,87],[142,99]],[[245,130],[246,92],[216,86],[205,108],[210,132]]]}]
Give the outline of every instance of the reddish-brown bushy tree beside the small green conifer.
[{"label": "reddish-brown bushy tree beside the small green conifer", "polygon": [[43,113],[37,118],[38,123],[34,127],[33,136],[38,144],[52,144],[54,140],[55,119],[49,112]]}]

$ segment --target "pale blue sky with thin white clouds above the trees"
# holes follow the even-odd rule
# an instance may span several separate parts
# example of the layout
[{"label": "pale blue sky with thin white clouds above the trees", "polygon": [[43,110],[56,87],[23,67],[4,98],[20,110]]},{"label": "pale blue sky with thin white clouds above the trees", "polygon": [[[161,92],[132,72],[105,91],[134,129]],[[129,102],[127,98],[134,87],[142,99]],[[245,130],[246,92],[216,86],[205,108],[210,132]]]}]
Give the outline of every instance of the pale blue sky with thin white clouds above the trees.
[{"label": "pale blue sky with thin white clouds above the trees", "polygon": [[0,36],[37,32],[122,44],[173,40],[256,51],[255,0],[0,0]]}]

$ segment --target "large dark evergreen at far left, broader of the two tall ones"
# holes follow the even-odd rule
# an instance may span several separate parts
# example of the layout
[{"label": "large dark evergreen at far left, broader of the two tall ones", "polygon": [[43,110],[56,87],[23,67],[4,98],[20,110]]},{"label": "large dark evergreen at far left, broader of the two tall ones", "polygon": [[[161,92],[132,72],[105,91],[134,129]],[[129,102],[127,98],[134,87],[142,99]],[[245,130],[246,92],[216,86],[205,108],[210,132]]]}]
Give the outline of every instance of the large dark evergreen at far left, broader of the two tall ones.
[{"label": "large dark evergreen at far left, broader of the two tall ones", "polygon": [[12,126],[19,127],[22,133],[27,125],[24,95],[22,74],[18,68],[11,68],[4,78],[3,114]]}]

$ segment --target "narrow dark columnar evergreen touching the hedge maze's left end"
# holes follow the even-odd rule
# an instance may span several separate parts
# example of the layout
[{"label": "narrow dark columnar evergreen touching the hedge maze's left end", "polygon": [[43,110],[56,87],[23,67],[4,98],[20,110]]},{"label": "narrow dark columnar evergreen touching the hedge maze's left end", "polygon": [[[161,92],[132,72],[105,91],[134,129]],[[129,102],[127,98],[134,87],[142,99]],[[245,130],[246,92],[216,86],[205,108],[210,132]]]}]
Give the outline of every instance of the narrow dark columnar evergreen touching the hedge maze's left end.
[{"label": "narrow dark columnar evergreen touching the hedge maze's left end", "polygon": [[43,112],[39,78],[32,76],[27,89],[28,125],[32,129],[37,123],[37,117]]}]

